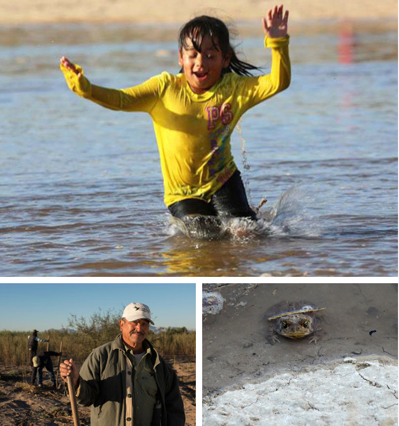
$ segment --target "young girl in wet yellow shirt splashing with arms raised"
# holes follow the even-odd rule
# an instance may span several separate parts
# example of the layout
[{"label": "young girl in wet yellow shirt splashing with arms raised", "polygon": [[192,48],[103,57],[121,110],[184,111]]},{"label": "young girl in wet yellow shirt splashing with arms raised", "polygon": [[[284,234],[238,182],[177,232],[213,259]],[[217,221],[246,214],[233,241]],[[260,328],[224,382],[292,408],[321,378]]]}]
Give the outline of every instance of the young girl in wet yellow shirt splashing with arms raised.
[{"label": "young girl in wet yellow shirt splashing with arms raised", "polygon": [[[79,96],[121,111],[148,112],[154,123],[172,216],[256,219],[248,204],[230,136],[243,113],[290,84],[288,11],[275,6],[263,17],[264,45],[272,49],[271,73],[239,60],[226,25],[214,17],[196,17],[179,36],[180,73],[163,72],[127,89],[92,85],[79,65],[63,56],[60,68]],[[216,218],[215,218],[216,219]]]}]

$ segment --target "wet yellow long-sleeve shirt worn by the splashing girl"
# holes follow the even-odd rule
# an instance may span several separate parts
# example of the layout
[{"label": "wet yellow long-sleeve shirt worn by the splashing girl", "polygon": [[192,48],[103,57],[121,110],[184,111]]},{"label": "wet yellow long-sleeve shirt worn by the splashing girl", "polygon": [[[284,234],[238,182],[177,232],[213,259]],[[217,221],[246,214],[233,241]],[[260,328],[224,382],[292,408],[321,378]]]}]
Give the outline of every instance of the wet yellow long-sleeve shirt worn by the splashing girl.
[{"label": "wet yellow long-sleeve shirt worn by the splashing girl", "polygon": [[161,161],[166,205],[186,198],[208,201],[230,178],[236,165],[230,136],[243,113],[290,84],[289,36],[265,38],[272,48],[270,74],[257,77],[226,73],[197,95],[184,74],[163,72],[126,89],[92,85],[61,66],[69,88],[104,107],[151,115]]}]

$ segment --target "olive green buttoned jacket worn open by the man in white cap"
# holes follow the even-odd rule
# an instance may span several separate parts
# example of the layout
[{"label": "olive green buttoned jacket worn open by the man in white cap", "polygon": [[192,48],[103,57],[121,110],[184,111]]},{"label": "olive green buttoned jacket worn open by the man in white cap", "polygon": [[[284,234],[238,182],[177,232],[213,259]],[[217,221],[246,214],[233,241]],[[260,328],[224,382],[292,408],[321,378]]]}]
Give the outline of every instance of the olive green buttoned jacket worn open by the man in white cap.
[{"label": "olive green buttoned jacket worn open by the man in white cap", "polygon": [[[184,426],[185,414],[176,374],[148,340],[158,387],[153,421],[148,426]],[[84,362],[76,389],[77,402],[91,406],[91,426],[133,426],[129,360],[122,335],[96,349]],[[126,386],[126,383],[128,384]]]}]

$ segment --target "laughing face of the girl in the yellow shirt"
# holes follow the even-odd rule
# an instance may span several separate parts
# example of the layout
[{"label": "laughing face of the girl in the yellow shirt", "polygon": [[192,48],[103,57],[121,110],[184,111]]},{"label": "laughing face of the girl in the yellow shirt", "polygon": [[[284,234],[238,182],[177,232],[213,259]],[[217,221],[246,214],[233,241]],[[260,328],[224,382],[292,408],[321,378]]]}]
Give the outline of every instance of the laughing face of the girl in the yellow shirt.
[{"label": "laughing face of the girl in the yellow shirt", "polygon": [[209,35],[203,38],[200,52],[194,49],[190,38],[186,39],[186,46],[179,51],[179,65],[191,90],[201,95],[219,80],[230,58],[224,57],[218,43],[213,43]]}]

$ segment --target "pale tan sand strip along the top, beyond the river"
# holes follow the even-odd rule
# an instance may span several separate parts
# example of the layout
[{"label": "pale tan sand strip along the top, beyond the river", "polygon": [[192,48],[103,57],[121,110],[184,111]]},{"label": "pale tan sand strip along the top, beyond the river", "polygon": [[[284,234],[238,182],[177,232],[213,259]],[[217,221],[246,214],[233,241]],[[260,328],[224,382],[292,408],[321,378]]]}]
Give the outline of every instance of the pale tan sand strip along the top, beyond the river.
[{"label": "pale tan sand strip along the top, beyond the river", "polygon": [[[0,0],[0,23],[118,22],[183,23],[197,14],[216,13],[234,21],[260,21],[271,0]],[[286,0],[291,22],[309,19],[397,20],[397,0]],[[215,7],[217,5],[217,7]]]}]

